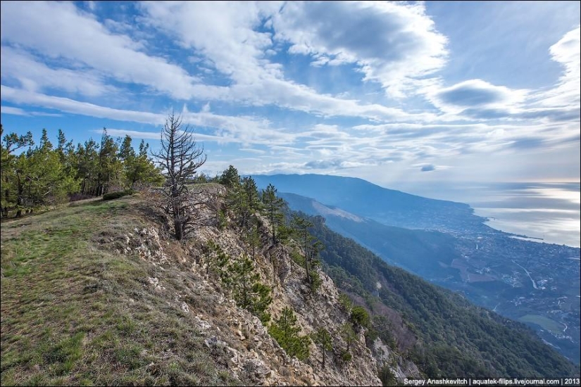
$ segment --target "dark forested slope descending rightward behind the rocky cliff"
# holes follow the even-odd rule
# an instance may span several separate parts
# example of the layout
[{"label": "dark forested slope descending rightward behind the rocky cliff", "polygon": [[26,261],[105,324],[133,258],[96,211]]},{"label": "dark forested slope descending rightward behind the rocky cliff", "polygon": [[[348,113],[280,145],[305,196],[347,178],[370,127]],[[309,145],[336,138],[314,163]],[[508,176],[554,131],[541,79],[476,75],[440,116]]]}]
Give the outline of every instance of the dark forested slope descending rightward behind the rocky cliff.
[{"label": "dark forested slope descending rightward behind the rocky cliff", "polygon": [[[351,239],[313,218],[321,257],[339,288],[361,296],[390,326],[392,347],[427,376],[572,376],[579,369],[523,324],[475,307],[457,294],[387,265]],[[402,328],[403,326],[403,328]],[[417,341],[408,337],[406,327]],[[397,329],[396,329],[397,328]]]}]

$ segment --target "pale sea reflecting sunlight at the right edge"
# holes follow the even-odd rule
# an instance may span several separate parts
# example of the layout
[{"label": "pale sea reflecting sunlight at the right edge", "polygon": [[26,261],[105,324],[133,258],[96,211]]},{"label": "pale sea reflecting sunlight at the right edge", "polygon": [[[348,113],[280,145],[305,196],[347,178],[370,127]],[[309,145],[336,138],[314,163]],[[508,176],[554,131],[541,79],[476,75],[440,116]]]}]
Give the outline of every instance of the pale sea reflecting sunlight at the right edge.
[{"label": "pale sea reflecting sunlight at the right edge", "polygon": [[467,203],[489,227],[528,240],[581,246],[580,183],[390,184],[426,198]]}]

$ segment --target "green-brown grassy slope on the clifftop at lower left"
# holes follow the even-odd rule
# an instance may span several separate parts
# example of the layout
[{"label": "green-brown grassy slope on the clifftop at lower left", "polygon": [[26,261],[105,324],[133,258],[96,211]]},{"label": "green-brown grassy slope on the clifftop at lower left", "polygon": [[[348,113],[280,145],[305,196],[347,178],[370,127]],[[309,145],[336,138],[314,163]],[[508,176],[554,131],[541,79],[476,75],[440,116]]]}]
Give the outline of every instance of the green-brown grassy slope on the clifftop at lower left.
[{"label": "green-brown grassy slope on the clifftop at lower left", "polygon": [[146,226],[138,201],[77,202],[2,223],[2,386],[235,383],[167,299],[189,274],[97,246]]}]

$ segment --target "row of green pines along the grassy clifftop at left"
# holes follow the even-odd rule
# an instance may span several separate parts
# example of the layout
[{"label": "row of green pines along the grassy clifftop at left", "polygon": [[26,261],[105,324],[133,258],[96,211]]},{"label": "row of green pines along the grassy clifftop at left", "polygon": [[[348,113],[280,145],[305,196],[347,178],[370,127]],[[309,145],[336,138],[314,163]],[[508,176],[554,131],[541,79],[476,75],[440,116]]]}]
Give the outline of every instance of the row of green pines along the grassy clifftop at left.
[{"label": "row of green pines along the grassy clifftop at left", "polygon": [[101,141],[89,139],[77,146],[61,129],[56,145],[46,129],[38,143],[31,132],[3,136],[0,125],[2,217],[20,217],[46,205],[163,182],[161,171],[148,156],[148,144],[142,140],[136,150],[131,137],[113,139],[106,129]]}]

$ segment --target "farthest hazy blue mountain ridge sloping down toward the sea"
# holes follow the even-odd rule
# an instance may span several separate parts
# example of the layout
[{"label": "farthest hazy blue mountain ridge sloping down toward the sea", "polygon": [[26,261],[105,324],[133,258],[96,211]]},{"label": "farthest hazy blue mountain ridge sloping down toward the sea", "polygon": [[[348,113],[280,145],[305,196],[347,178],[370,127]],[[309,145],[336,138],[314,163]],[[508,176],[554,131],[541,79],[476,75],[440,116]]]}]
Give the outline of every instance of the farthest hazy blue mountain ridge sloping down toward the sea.
[{"label": "farthest hazy blue mountain ridge sloping down toward the sea", "polygon": [[253,175],[265,188],[274,184],[279,192],[314,198],[320,203],[340,206],[355,215],[389,226],[408,229],[436,229],[466,232],[493,231],[474,215],[469,205],[406,194],[377,186],[363,179],[330,175]]}]

